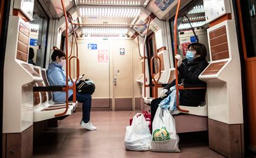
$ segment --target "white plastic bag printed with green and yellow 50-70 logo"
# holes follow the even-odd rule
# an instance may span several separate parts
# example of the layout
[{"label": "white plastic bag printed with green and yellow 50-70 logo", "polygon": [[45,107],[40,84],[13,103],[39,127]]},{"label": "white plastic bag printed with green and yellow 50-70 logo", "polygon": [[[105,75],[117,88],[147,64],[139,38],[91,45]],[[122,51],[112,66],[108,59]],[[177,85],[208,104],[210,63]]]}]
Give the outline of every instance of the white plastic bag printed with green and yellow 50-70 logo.
[{"label": "white plastic bag printed with green and yellow 50-70 logo", "polygon": [[175,120],[168,109],[158,107],[152,124],[150,151],[180,152]]}]

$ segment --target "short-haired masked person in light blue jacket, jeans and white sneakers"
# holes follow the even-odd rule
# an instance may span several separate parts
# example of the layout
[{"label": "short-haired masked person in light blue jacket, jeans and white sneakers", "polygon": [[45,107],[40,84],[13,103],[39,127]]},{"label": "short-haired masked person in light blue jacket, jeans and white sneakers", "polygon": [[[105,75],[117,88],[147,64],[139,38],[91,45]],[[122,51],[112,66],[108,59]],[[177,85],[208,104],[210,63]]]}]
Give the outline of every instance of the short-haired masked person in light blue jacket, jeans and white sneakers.
[{"label": "short-haired masked person in light blue jacket, jeans and white sneakers", "polygon": [[[66,85],[66,74],[63,65],[66,65],[66,55],[62,50],[54,50],[51,55],[51,62],[47,70],[47,77],[50,85]],[[72,82],[69,81],[69,86]],[[58,103],[66,102],[66,92],[53,92],[53,100]],[[69,90],[69,101],[73,100],[73,90]],[[90,122],[90,111],[92,106],[92,96],[85,93],[77,93],[77,101],[83,103],[82,120],[80,125],[88,130],[96,130],[96,127]]]}]

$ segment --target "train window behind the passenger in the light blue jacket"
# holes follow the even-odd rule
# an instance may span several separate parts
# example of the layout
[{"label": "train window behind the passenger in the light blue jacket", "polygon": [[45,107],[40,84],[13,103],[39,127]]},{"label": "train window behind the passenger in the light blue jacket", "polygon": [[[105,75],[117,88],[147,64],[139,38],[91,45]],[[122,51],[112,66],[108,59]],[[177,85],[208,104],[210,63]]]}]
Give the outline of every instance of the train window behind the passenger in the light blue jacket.
[{"label": "train window behind the passenger in the light blue jacket", "polygon": [[28,62],[41,67],[45,67],[48,20],[49,18],[40,3],[35,1],[33,20],[30,21],[30,51],[34,52],[34,56],[30,52]]}]

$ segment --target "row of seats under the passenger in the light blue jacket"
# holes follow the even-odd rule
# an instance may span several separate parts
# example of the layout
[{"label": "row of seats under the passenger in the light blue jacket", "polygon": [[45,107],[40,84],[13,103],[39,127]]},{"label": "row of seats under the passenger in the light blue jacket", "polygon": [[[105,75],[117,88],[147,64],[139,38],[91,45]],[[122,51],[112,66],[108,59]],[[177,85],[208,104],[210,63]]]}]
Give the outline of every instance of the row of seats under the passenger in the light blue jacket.
[{"label": "row of seats under the passenger in the light blue jacket", "polygon": [[[34,86],[49,86],[46,69],[40,66],[34,66],[36,73],[40,74],[43,82],[36,83]],[[77,103],[69,102],[69,108],[65,116],[71,115]],[[66,103],[56,103],[53,101],[52,92],[34,92],[34,106],[33,106],[33,122],[41,120],[48,120],[55,118],[56,114],[63,113],[66,110]]]}]

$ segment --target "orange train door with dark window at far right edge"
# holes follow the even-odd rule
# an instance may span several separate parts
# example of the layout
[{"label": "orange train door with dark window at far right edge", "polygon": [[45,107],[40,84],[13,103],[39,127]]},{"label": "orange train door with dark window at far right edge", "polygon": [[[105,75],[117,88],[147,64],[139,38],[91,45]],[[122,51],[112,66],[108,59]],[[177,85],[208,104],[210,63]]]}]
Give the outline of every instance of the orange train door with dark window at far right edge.
[{"label": "orange train door with dark window at far right edge", "polygon": [[249,150],[256,152],[256,1],[237,1],[244,53]]}]

